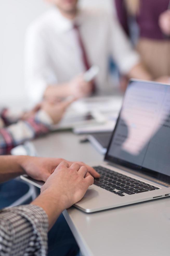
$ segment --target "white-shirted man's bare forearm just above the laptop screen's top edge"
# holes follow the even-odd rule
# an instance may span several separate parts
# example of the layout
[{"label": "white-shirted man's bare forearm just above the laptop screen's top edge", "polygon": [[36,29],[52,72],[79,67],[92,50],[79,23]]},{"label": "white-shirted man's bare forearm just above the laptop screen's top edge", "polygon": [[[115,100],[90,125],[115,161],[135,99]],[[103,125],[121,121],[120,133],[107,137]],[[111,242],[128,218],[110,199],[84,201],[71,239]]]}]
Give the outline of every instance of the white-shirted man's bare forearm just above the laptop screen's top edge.
[{"label": "white-shirted man's bare forearm just above the laptop screen's top edge", "polygon": [[136,78],[143,80],[152,80],[151,74],[145,69],[145,67],[139,63],[135,65],[128,73],[128,78]]}]

